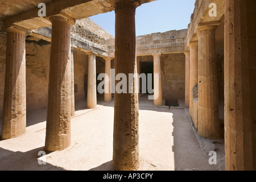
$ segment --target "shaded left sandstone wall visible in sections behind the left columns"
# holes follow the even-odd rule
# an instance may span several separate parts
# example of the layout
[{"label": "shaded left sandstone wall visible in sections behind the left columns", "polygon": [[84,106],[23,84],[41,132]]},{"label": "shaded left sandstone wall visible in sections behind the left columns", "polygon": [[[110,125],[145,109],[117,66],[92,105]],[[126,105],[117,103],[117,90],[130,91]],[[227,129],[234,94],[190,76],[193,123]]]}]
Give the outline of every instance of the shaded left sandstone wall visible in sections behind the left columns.
[{"label": "shaded left sandstone wall visible in sections behind the left columns", "polygon": [[[51,43],[44,40],[26,40],[26,90],[27,111],[47,107],[49,55]],[[6,35],[0,34],[0,117],[3,111],[5,86]],[[88,56],[79,49],[74,50],[74,71],[77,92],[75,100],[84,99],[84,75],[88,72]]]}]

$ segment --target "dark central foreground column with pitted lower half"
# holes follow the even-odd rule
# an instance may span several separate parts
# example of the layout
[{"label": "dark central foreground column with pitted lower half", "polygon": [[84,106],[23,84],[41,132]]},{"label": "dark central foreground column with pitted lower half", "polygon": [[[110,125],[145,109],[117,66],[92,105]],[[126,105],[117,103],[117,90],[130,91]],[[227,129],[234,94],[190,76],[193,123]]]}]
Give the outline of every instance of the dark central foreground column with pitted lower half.
[{"label": "dark central foreground column with pitted lower half", "polygon": [[[139,3],[117,1],[115,6],[115,75],[137,73],[135,9]],[[115,85],[118,84],[115,80]],[[114,99],[113,166],[116,170],[139,168],[139,109],[137,77],[133,79],[133,93],[117,93]]]}]

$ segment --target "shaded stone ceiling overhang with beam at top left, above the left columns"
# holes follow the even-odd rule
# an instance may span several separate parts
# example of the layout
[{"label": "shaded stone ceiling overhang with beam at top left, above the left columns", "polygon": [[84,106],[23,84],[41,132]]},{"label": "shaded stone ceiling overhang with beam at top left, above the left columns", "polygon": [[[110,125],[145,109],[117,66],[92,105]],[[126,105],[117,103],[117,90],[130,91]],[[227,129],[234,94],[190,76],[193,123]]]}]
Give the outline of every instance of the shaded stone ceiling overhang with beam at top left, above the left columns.
[{"label": "shaded stone ceiling overhang with beam at top left, above the left columns", "polygon": [[[51,26],[49,17],[53,15],[65,15],[73,19],[88,18],[115,10],[117,1],[130,0],[24,0],[23,3],[17,0],[9,0],[8,2],[3,2],[0,7],[0,19],[3,22],[3,28],[15,26],[27,30],[35,30]],[[156,0],[137,1],[143,4]],[[46,3],[46,17],[44,18],[38,16],[39,3]]]}]

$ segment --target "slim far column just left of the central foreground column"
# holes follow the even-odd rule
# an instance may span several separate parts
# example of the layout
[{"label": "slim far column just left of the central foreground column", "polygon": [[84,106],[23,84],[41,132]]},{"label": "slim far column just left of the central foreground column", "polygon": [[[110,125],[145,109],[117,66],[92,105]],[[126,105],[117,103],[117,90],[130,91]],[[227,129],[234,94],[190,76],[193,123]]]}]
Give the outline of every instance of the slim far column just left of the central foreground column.
[{"label": "slim far column just left of the central foreground column", "polygon": [[111,58],[107,57],[105,58],[105,76],[108,76],[108,78],[105,78],[105,85],[104,85],[104,101],[105,102],[111,102],[112,101],[112,93],[111,93]]}]

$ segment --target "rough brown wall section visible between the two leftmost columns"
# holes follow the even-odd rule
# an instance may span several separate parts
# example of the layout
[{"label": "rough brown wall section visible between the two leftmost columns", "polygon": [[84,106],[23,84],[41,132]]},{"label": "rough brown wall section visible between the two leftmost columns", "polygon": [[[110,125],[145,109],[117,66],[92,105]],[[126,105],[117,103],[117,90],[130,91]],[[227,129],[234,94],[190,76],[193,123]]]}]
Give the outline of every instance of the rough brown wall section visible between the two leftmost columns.
[{"label": "rough brown wall section visible between the two leftmost columns", "polygon": [[48,42],[26,41],[27,111],[47,106],[50,51]]}]

